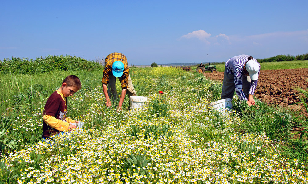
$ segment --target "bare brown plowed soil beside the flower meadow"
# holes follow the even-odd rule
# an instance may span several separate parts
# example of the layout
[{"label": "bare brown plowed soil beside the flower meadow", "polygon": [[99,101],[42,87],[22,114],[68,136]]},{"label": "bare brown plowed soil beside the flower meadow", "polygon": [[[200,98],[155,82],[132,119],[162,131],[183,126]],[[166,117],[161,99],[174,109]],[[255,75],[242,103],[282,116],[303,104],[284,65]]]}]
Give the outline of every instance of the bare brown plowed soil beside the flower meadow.
[{"label": "bare brown plowed soil beside the flower meadow", "polygon": [[[211,80],[223,81],[224,72],[205,73]],[[300,93],[296,87],[306,89],[308,87],[308,68],[261,70],[258,80],[256,97],[267,104],[287,106],[299,102]],[[292,108],[297,108],[295,105]]]}]

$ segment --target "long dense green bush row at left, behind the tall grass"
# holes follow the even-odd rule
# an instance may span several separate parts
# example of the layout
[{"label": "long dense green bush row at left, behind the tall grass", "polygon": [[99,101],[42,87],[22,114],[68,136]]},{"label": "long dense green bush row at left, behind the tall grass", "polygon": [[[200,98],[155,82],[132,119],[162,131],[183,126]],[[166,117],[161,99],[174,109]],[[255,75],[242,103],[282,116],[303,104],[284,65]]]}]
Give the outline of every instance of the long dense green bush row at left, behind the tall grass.
[{"label": "long dense green bush row at left, behind the tall grass", "polygon": [[14,58],[0,60],[0,73],[34,74],[60,70],[99,70],[103,66],[97,62],[89,61],[76,56],[47,56],[46,58]]}]

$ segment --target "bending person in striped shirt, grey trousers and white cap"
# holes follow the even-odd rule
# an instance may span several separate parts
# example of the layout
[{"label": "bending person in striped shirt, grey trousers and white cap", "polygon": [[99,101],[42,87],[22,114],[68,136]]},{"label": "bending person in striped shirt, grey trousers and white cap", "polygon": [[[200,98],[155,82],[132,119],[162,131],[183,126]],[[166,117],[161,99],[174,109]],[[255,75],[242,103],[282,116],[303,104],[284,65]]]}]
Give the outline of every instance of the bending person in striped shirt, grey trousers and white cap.
[{"label": "bending person in striped shirt, grey trousers and white cap", "polygon": [[255,105],[253,99],[260,73],[260,63],[248,55],[234,56],[225,64],[221,99],[233,98],[234,91],[240,100]]}]

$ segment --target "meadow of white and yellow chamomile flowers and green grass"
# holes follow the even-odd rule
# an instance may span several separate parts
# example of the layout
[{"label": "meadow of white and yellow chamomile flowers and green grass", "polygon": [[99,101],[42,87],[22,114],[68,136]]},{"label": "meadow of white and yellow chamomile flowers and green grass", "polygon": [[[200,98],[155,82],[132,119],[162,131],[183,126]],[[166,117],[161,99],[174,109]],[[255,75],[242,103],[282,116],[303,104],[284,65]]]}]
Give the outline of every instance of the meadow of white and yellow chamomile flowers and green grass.
[{"label": "meadow of white and yellow chamomile flowers and green grass", "polygon": [[[68,98],[67,116],[83,130],[43,142],[45,102],[71,74],[82,88]],[[209,103],[220,99],[221,83],[171,67],[131,67],[148,102],[130,109],[126,97],[118,111],[116,102],[105,106],[102,75],[0,75],[0,183],[308,183],[307,149],[283,139],[303,117],[257,99],[249,109],[237,97],[234,111],[218,113]]]}]

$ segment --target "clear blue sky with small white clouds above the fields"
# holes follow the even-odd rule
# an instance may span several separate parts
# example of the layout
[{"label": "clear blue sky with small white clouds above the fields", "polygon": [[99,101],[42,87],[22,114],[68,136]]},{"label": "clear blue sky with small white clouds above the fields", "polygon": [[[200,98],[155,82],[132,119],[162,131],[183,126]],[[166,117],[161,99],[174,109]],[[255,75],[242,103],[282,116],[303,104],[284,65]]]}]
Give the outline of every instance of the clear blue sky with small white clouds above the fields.
[{"label": "clear blue sky with small white clouds above the fields", "polygon": [[0,60],[112,52],[128,64],[308,53],[308,1],[14,1],[0,11]]}]

